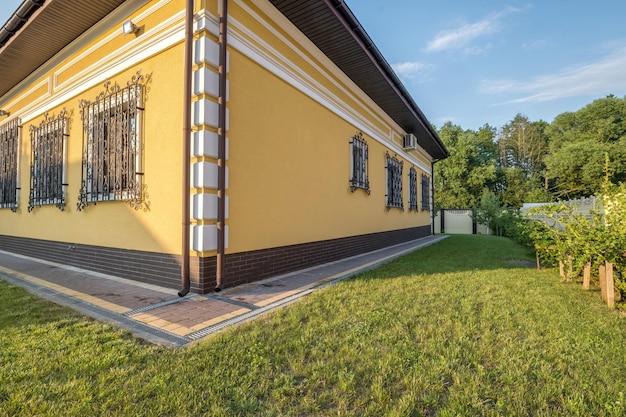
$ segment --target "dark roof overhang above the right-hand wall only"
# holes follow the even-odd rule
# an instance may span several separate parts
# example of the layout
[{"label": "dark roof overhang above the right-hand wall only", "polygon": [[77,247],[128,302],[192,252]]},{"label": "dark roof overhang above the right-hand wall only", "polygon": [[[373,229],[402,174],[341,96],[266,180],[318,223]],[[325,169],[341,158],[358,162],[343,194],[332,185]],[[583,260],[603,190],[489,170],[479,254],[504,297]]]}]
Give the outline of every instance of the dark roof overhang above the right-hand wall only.
[{"label": "dark roof overhang above the right-hand wall only", "polygon": [[434,160],[449,156],[430,122],[343,0],[270,0]]}]

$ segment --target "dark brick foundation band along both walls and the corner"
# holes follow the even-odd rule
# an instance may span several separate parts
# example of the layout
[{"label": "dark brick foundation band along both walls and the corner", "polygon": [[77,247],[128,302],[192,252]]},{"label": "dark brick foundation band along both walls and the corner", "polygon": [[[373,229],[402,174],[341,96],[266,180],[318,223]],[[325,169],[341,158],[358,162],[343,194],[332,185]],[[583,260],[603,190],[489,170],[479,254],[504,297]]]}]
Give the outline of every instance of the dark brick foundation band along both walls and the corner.
[{"label": "dark brick foundation band along both walls and the corner", "polygon": [[[336,261],[431,234],[430,225],[226,255],[223,287]],[[0,235],[0,250],[180,288],[180,256]],[[215,288],[214,256],[190,259],[191,291]]]}]

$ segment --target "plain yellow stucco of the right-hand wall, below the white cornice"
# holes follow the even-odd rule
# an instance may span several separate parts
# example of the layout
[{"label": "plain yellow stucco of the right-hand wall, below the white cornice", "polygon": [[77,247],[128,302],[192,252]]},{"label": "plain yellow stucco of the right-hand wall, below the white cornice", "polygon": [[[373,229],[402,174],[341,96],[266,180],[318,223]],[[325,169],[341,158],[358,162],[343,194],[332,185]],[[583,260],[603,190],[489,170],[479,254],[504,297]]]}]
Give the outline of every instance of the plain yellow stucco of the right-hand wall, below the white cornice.
[{"label": "plain yellow stucco of the right-hand wall, below the white cornice", "polygon": [[405,210],[388,210],[388,149],[365,136],[371,194],[351,192],[349,142],[358,127],[244,57],[231,60],[229,252],[430,224],[429,212],[408,211],[410,163]]}]

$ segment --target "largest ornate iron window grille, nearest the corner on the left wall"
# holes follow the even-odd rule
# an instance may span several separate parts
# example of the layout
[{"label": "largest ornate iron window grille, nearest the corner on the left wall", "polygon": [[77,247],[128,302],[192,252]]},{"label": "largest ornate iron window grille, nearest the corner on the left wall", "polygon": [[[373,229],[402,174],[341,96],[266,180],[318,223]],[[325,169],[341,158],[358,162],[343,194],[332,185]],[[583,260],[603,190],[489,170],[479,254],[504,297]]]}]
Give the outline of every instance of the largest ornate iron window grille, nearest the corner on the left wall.
[{"label": "largest ornate iron window grille, nearest the corner on the left wall", "polygon": [[137,72],[125,87],[104,84],[94,101],[81,100],[82,179],[77,209],[98,201],[142,205],[142,116],[144,77]]}]

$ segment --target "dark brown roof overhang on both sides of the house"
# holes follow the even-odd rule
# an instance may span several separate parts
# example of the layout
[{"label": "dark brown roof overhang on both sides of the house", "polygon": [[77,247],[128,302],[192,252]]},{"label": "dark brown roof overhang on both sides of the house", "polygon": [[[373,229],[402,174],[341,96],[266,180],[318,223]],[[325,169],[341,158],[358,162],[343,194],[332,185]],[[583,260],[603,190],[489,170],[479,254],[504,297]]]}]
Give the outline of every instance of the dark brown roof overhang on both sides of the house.
[{"label": "dark brown roof overhang on both sides of the house", "polygon": [[[125,0],[24,0],[0,28],[0,96]],[[343,0],[270,0],[434,160],[449,153]],[[80,12],[78,12],[80,11]],[[53,31],[53,33],[51,33]]]}]

